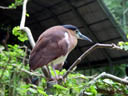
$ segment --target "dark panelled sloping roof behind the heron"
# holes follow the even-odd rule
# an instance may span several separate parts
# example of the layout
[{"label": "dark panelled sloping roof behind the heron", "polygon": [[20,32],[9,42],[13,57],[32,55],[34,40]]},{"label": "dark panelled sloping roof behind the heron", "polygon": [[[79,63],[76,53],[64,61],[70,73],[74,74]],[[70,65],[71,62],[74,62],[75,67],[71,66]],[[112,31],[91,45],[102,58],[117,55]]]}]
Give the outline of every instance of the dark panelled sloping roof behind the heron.
[{"label": "dark panelled sloping roof behind the heron", "polygon": [[[27,9],[30,17],[27,18],[26,25],[30,27],[36,40],[44,30],[51,26],[72,24],[94,43],[117,44],[119,41],[126,41],[124,32],[102,0],[30,0]],[[11,23],[19,24],[21,7],[11,11],[2,10],[2,12],[0,14],[8,17],[5,21],[10,20]],[[4,22],[3,19],[0,21]],[[79,41],[78,46],[69,55],[68,64],[65,64],[65,67],[71,65],[93,44]],[[97,49],[81,62],[79,68],[127,63],[127,58],[128,55],[122,51]]]}]

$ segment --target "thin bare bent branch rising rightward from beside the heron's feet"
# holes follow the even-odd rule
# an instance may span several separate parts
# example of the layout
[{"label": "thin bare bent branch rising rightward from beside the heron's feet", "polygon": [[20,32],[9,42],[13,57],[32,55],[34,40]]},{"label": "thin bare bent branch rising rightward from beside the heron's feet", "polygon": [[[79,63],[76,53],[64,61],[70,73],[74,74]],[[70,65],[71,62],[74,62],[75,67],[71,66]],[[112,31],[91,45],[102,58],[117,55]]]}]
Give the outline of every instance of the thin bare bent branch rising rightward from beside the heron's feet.
[{"label": "thin bare bent branch rising rightward from beside the heron's feet", "polygon": [[88,54],[90,54],[91,52],[93,52],[95,49],[97,48],[112,48],[112,49],[118,49],[118,50],[122,50],[119,46],[115,45],[115,44],[100,44],[100,43],[96,43],[95,45],[93,45],[92,47],[90,47],[87,51],[85,51],[71,66],[70,68],[67,70],[67,72],[63,75],[63,78],[66,78],[67,75],[73,70],[73,68],[75,66],[77,66],[81,60],[83,60]]}]

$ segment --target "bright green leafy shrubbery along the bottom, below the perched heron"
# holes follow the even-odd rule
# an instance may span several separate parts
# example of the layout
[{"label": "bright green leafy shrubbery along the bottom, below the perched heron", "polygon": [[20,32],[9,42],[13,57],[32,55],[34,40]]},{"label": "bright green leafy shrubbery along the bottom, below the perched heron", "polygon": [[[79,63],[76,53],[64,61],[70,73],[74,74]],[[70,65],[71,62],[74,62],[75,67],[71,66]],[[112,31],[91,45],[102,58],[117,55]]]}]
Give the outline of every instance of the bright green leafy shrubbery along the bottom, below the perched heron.
[{"label": "bright green leafy shrubbery along the bottom, below the perched heron", "polygon": [[[70,73],[62,84],[53,85],[50,88],[50,93],[47,91],[47,81],[40,77],[38,85],[26,83],[24,78],[28,78],[30,74],[29,67],[24,65],[26,52],[24,47],[19,45],[8,45],[9,51],[0,53],[0,96],[79,96],[84,89],[88,96],[97,96],[105,94],[111,96],[128,95],[127,85],[114,82],[110,79],[99,79],[93,85],[89,81],[94,77],[87,77],[80,73]],[[40,73],[40,71],[37,71]],[[63,75],[66,72],[63,69],[61,72],[56,70],[58,75]],[[53,72],[52,72],[53,73]]]}]

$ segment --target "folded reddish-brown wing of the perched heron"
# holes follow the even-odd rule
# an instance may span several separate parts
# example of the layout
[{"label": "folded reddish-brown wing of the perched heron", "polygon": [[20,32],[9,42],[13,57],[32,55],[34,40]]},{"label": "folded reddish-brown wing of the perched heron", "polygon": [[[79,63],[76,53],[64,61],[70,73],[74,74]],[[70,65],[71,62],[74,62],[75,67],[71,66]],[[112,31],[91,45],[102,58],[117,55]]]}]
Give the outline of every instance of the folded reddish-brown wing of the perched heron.
[{"label": "folded reddish-brown wing of the perched heron", "polygon": [[44,34],[39,37],[36,46],[30,54],[30,69],[35,70],[47,65],[60,56],[66,55],[68,44],[65,39],[62,38],[64,37],[65,31],[58,32],[54,30],[54,34],[50,32],[49,34]]}]

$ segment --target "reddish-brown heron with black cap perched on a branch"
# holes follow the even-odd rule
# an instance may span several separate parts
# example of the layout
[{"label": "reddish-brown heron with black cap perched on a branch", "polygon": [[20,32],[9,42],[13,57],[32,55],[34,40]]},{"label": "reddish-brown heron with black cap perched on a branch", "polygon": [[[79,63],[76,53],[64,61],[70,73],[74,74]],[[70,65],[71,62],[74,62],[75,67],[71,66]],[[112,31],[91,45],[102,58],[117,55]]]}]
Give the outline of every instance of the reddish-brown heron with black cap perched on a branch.
[{"label": "reddish-brown heron with black cap perched on a branch", "polygon": [[47,29],[40,35],[30,54],[30,69],[52,65],[54,70],[56,64],[61,64],[59,67],[62,67],[69,53],[77,45],[78,39],[92,42],[74,25],[54,26]]}]

